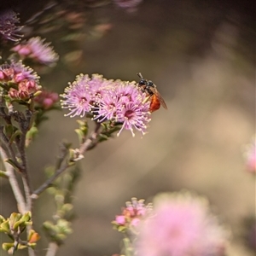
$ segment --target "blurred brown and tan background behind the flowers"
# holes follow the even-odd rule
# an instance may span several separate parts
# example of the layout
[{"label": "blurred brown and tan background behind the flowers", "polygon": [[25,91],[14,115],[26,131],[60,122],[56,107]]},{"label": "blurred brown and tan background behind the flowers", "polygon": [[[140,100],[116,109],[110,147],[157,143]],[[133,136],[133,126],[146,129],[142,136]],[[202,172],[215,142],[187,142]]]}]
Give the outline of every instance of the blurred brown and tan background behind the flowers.
[{"label": "blurred brown and tan background behind the flowers", "polygon": [[[157,193],[181,189],[207,196],[230,227],[228,255],[253,255],[243,223],[255,214],[255,180],[244,157],[255,134],[255,3],[33,2],[10,1],[1,8],[20,13],[25,38],[46,38],[60,55],[54,68],[41,71],[42,85],[62,93],[79,73],[138,80],[141,72],[168,106],[152,114],[143,138],[123,131],[85,154],[73,195],[73,234],[57,255],[119,253],[122,236],[111,221],[125,201],[136,196],[149,202]],[[34,188],[45,178],[44,167],[55,163],[63,139],[79,145],[75,119],[63,114],[49,113],[28,149]],[[16,211],[15,200],[7,181],[1,188],[0,214],[8,216]],[[35,218],[42,223],[54,210],[44,193]],[[46,247],[43,236],[38,251],[44,255]]]}]

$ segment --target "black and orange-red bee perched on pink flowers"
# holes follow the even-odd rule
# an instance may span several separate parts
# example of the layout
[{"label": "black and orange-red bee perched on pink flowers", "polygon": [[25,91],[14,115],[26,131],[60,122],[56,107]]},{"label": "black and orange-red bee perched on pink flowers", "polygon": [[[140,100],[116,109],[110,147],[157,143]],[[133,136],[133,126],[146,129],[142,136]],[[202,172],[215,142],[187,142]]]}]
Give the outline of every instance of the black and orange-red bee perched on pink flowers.
[{"label": "black and orange-red bee perched on pink flowers", "polygon": [[137,73],[137,75],[140,78],[137,85],[138,88],[145,92],[150,100],[149,111],[154,112],[158,110],[161,105],[163,108],[167,109],[166,102],[156,89],[156,85],[151,80],[143,79],[142,73]]}]

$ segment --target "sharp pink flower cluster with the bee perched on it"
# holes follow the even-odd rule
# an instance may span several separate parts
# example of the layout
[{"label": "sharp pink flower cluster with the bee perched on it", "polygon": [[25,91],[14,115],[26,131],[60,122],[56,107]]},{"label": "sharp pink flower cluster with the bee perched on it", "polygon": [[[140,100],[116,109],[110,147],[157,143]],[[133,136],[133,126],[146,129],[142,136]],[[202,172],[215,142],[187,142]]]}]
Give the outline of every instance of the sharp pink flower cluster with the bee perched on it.
[{"label": "sharp pink flower cluster with the bee perched on it", "polygon": [[61,95],[62,108],[68,108],[70,117],[90,113],[97,122],[110,121],[122,125],[123,129],[133,129],[145,133],[150,121],[147,96],[137,89],[136,82],[104,79],[102,75],[80,74]]}]

